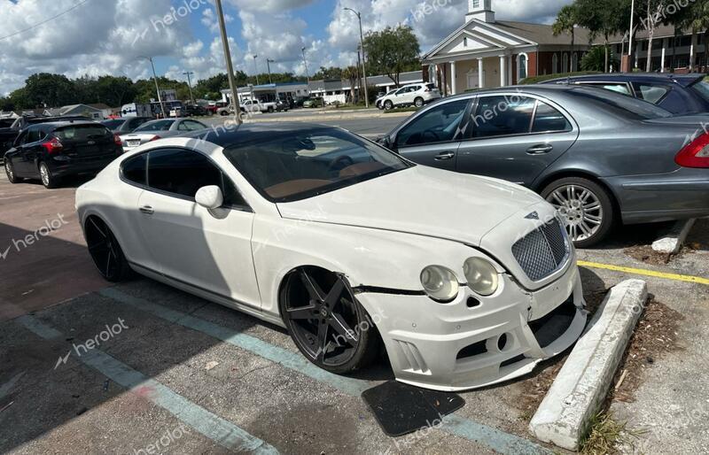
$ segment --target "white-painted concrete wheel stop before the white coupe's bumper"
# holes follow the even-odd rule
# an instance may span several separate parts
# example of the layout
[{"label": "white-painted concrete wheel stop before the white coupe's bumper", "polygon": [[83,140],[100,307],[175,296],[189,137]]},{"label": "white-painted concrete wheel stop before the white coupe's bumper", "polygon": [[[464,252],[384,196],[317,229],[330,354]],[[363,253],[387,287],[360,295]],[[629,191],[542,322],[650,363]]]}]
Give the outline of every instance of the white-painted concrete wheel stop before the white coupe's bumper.
[{"label": "white-painted concrete wheel stop before the white coupe's bumper", "polygon": [[529,423],[532,435],[578,450],[589,420],[611,386],[647,296],[647,283],[642,280],[623,281],[611,289]]}]

